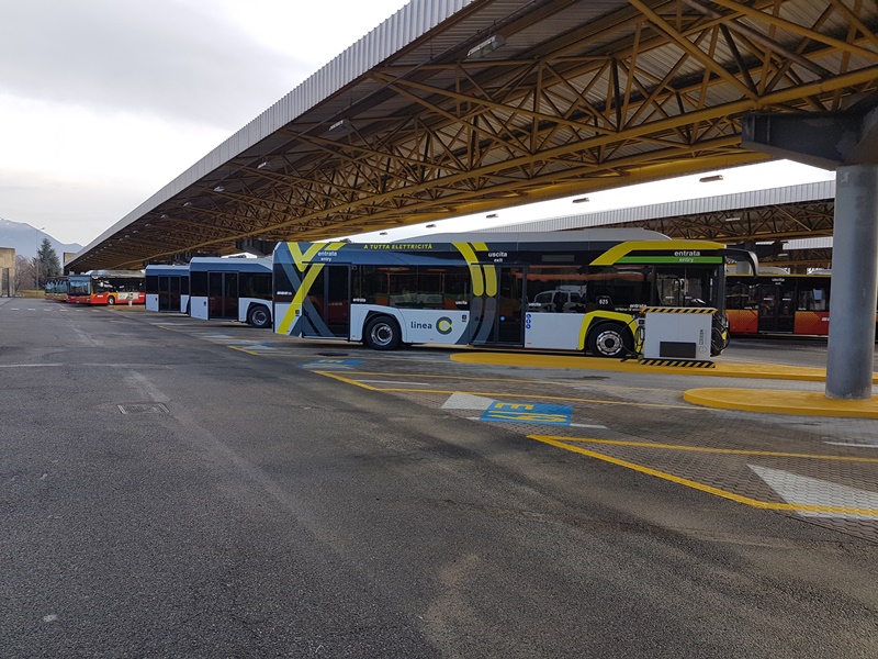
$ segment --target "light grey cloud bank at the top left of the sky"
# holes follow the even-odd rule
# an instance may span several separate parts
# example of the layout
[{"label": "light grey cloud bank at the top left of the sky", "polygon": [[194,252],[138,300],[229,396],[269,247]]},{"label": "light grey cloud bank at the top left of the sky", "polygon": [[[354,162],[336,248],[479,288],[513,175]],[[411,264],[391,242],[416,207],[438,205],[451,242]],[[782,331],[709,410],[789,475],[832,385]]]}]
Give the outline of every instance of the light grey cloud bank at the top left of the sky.
[{"label": "light grey cloud bank at the top left of the sky", "polygon": [[0,21],[0,89],[234,131],[309,75],[210,2],[26,0]]}]

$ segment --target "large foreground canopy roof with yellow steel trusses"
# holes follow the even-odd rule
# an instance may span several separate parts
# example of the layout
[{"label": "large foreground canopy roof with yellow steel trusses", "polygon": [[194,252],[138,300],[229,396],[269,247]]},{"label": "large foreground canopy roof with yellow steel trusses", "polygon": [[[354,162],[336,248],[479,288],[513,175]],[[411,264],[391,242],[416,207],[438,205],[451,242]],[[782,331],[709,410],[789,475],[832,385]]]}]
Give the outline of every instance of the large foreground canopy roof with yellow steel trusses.
[{"label": "large foreground canopy roof with yellow steel trusses", "polygon": [[[867,96],[876,25],[874,2],[413,0],[68,266],[230,254],[241,238],[318,239],[761,160],[741,147],[741,114]],[[494,34],[503,47],[469,56]]]}]

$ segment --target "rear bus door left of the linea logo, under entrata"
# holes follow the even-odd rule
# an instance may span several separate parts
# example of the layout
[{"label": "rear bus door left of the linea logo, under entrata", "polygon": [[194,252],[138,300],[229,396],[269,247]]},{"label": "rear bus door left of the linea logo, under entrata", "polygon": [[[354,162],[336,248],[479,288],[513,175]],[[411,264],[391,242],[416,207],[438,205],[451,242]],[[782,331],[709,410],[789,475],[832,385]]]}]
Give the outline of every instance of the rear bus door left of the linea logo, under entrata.
[{"label": "rear bus door left of the linea logo, under entrata", "polygon": [[302,305],[302,336],[350,337],[350,268],[324,266]]}]

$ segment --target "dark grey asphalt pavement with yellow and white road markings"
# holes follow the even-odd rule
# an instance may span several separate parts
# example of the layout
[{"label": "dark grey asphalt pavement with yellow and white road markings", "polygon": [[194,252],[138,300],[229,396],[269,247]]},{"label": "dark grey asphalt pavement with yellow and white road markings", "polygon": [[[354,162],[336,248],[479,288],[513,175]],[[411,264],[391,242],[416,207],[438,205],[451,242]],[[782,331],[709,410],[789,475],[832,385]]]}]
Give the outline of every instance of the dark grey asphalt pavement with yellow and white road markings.
[{"label": "dark grey asphalt pavement with yellow and white road markings", "polygon": [[1,299],[0,657],[878,655],[874,420],[461,353]]}]

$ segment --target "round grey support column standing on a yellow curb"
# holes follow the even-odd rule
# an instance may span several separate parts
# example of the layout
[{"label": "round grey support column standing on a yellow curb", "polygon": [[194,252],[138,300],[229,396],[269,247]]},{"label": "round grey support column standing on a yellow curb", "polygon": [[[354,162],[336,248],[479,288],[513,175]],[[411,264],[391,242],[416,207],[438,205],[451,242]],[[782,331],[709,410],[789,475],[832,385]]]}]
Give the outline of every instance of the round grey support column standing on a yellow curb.
[{"label": "round grey support column standing on a yellow curb", "polygon": [[826,398],[871,396],[878,299],[878,165],[835,174]]}]

